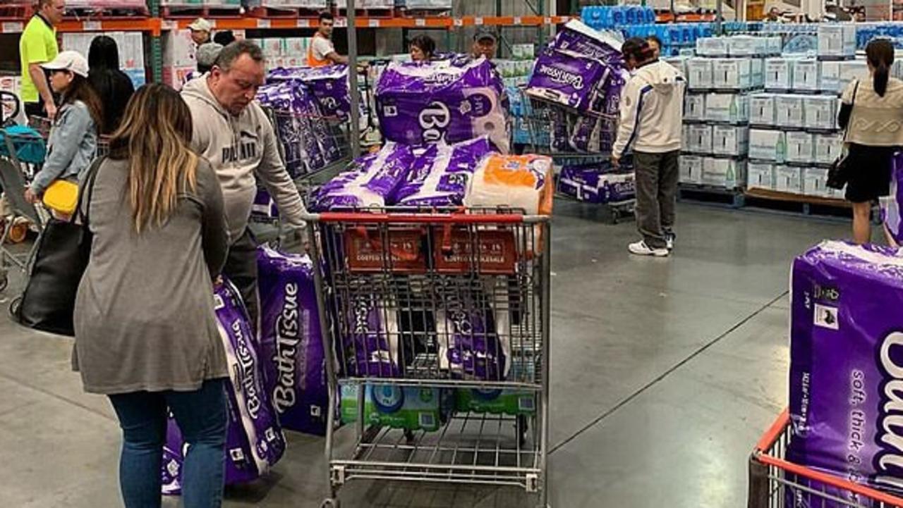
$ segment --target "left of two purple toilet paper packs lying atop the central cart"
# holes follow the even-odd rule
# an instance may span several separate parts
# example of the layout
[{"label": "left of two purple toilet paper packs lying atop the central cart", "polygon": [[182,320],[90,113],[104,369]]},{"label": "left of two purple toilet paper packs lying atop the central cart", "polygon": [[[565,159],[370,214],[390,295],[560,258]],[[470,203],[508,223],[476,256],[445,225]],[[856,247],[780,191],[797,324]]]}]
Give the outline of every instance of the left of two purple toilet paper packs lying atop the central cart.
[{"label": "left of two purple toilet paper packs lying atop the central cart", "polygon": [[385,207],[393,202],[413,165],[414,152],[408,146],[386,143],[379,152],[358,158],[354,170],[316,189],[311,209]]}]

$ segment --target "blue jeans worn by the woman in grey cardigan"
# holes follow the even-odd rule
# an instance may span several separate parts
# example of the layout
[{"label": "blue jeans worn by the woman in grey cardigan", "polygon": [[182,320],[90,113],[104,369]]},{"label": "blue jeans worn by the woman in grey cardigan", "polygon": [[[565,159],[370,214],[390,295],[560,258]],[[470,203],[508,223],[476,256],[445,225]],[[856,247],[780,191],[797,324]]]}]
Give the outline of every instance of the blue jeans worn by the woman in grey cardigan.
[{"label": "blue jeans worn by the woman in grey cardigan", "polygon": [[119,485],[126,508],[160,508],[163,503],[167,407],[189,445],[182,466],[182,503],[185,508],[219,508],[226,465],[226,383],[205,381],[195,392],[109,396],[123,434]]}]

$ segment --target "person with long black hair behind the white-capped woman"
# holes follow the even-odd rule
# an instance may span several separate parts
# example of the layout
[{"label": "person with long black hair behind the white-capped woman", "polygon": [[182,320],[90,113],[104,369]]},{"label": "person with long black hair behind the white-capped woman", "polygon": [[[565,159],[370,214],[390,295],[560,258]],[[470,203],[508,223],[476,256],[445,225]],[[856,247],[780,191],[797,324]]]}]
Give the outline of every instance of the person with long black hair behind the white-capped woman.
[{"label": "person with long black hair behind the white-capped woman", "polygon": [[88,81],[104,100],[104,125],[100,134],[111,134],[122,121],[128,99],[135,93],[135,85],[119,69],[119,48],[116,41],[98,35],[88,51]]}]

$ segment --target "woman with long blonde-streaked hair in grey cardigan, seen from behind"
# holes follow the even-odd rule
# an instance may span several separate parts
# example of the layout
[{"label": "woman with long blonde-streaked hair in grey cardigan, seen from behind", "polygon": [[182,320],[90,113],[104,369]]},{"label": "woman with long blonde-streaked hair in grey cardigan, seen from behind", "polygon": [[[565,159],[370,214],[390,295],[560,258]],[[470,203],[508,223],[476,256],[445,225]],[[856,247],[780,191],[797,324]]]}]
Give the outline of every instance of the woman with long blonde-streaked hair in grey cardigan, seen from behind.
[{"label": "woman with long blonde-streaked hair in grey cardigan, seen from behind", "polygon": [[182,97],[145,86],[84,190],[94,240],[76,298],[73,364],[85,391],[107,395],[118,416],[126,508],[162,503],[167,408],[189,445],[184,506],[222,499],[228,370],[213,281],[228,233],[219,180],[190,142]]}]

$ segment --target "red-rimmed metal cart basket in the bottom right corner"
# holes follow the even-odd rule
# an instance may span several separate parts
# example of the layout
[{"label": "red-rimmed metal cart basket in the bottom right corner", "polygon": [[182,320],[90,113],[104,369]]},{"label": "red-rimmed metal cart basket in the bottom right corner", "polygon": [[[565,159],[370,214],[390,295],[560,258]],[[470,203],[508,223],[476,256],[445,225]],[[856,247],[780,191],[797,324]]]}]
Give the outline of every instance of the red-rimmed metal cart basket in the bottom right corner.
[{"label": "red-rimmed metal cart basket in the bottom right corner", "polygon": [[749,508],[890,508],[903,499],[787,461],[790,413],[777,417],[749,457]]}]

